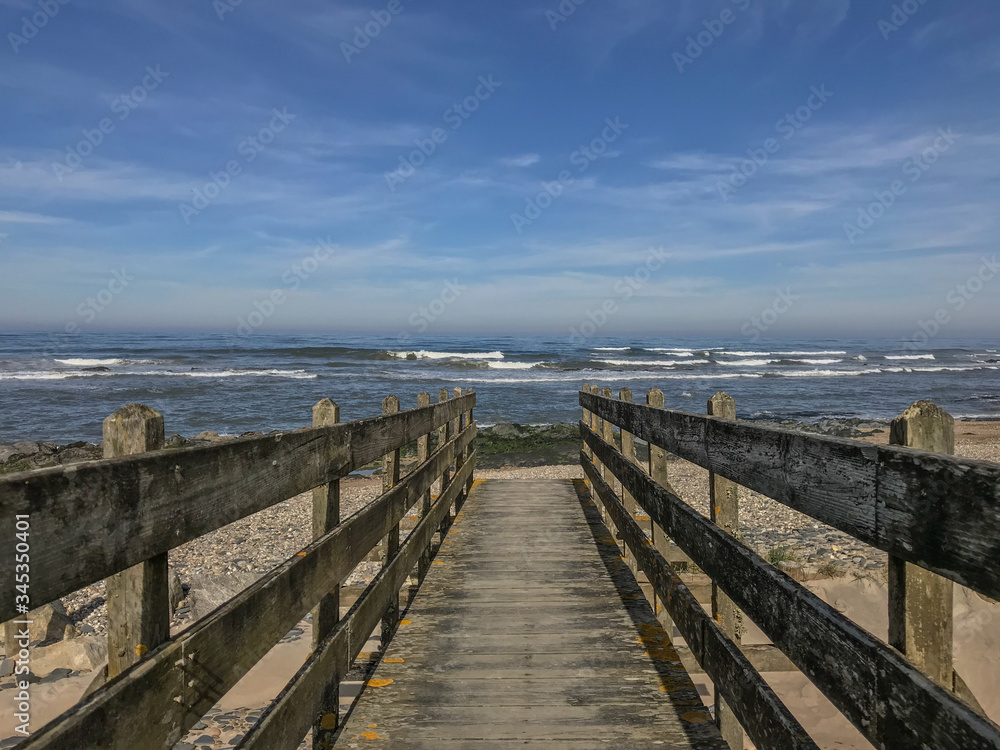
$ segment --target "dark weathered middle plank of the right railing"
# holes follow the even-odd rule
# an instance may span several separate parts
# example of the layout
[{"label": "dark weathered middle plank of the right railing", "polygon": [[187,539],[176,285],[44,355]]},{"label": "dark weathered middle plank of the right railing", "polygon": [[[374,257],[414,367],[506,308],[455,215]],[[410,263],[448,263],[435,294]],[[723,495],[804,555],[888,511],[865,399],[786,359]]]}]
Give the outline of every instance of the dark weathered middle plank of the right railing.
[{"label": "dark weathered middle plank of the right railing", "polygon": [[580,430],[650,517],[876,747],[1000,747],[1000,727]]}]

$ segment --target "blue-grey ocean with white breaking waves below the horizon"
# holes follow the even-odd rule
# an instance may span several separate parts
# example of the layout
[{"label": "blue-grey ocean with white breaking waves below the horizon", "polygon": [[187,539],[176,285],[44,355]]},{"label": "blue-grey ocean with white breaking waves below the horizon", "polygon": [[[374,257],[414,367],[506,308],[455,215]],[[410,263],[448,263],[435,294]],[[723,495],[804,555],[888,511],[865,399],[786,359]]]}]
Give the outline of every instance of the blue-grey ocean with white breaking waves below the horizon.
[{"label": "blue-grey ocean with white breaking waves below the horizon", "polygon": [[403,408],[426,390],[478,393],[477,421],[579,419],[584,382],[659,387],[667,406],[704,413],[718,390],[742,418],[888,419],[930,399],[955,417],[1000,419],[1000,342],[567,337],[396,337],[212,334],[0,334],[0,443],[97,441],[101,421],[141,402],[167,435],[238,435],[311,421],[329,397],[345,421]]}]

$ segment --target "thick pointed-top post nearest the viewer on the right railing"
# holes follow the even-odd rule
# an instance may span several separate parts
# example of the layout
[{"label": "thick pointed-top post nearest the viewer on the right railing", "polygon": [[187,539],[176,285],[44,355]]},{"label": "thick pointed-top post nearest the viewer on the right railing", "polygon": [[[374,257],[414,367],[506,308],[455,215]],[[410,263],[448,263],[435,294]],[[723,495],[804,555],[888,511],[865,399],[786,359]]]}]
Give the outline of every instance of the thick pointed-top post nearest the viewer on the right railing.
[{"label": "thick pointed-top post nearest the viewer on the right railing", "polygon": [[[889,442],[935,453],[955,452],[955,420],[917,401],[892,420]],[[889,557],[889,643],[942,687],[954,689],[952,582]]]}]

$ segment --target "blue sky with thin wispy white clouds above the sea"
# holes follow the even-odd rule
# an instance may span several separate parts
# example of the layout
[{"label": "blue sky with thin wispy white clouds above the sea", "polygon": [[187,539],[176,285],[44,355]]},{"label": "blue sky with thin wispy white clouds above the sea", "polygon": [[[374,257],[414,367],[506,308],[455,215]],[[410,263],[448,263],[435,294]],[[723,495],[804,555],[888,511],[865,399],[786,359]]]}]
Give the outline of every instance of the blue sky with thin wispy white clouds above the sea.
[{"label": "blue sky with thin wispy white clouds above the sea", "polygon": [[995,336],[998,31],[993,0],[0,0],[0,329]]}]

